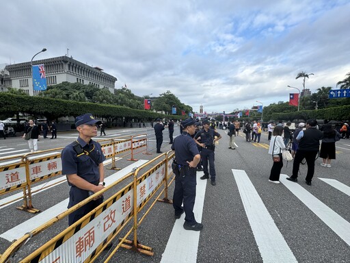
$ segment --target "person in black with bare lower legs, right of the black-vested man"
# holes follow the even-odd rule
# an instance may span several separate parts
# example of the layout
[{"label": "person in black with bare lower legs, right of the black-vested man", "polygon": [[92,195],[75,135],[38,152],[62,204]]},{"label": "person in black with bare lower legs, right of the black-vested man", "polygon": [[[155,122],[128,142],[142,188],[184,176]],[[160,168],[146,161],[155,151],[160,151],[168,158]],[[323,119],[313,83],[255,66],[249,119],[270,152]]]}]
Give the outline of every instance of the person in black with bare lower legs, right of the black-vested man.
[{"label": "person in black with bare lower legs, right of the black-vested man", "polygon": [[331,167],[331,160],[336,159],[336,142],[342,136],[332,128],[332,124],[323,125],[323,139],[321,142],[320,157],[323,159],[321,166]]}]

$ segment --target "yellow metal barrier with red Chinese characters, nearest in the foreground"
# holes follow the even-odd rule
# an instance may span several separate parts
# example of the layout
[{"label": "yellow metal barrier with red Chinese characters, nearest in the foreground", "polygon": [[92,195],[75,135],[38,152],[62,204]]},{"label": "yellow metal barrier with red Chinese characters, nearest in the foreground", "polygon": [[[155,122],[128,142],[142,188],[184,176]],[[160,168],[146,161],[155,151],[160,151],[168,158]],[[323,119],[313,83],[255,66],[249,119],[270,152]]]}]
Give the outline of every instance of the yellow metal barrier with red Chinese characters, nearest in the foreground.
[{"label": "yellow metal barrier with red Chinese characters, nearest in the foreground", "polygon": [[[81,201],[81,203],[78,203],[40,227],[25,234],[23,237],[18,238],[18,240],[14,241],[6,249],[3,255],[0,255],[0,262],[7,262],[18,249],[21,249],[23,245],[29,242],[32,236],[36,236],[45,229],[52,227],[57,221],[78,210],[98,195],[113,190],[112,188],[130,177],[133,177],[133,181],[126,184],[118,192],[112,194],[98,208],[95,208],[79,221],[51,238],[49,242],[41,245],[41,247],[27,255],[20,262],[94,262],[107,245],[109,245],[111,240],[114,240],[132,219],[133,226],[123,238],[120,238],[120,242],[116,244],[113,251],[109,251],[105,262],[109,262],[120,247],[131,248],[147,255],[153,255],[152,248],[142,245],[137,241],[137,228],[144,221],[144,218],[148,215],[159,197],[163,195],[163,192],[167,191],[165,185],[167,185],[167,181],[170,179],[170,175],[172,175],[172,171],[169,169],[169,163],[173,156],[174,153],[170,152],[157,156],[157,158],[139,166],[135,171],[115,181],[102,191],[95,193],[91,197]],[[138,177],[139,171],[150,165],[152,168]],[[161,189],[162,186],[164,186],[163,189]],[[161,192],[157,198],[154,199],[148,210],[137,221],[137,214],[150,202],[158,190],[161,190]],[[167,197],[167,193],[165,197]],[[132,233],[134,234],[133,241],[126,240]]]}]

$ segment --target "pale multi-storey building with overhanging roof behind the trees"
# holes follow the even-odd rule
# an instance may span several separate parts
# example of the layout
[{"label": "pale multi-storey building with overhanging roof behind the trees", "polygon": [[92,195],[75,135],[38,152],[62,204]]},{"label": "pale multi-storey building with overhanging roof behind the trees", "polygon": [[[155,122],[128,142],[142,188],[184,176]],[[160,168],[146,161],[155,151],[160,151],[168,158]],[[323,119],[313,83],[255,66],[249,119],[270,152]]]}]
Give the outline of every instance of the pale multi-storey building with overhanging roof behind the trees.
[{"label": "pale multi-storey building with overhanging roof behind the trees", "polygon": [[[83,64],[66,55],[33,61],[33,65],[38,64],[44,64],[47,86],[62,82],[79,82],[92,84],[97,88],[104,88],[114,93],[114,86],[118,80],[103,72],[102,68]],[[39,91],[33,90],[30,62],[7,65],[5,70],[9,73],[3,79],[5,87],[21,88],[31,96],[38,94]]]}]

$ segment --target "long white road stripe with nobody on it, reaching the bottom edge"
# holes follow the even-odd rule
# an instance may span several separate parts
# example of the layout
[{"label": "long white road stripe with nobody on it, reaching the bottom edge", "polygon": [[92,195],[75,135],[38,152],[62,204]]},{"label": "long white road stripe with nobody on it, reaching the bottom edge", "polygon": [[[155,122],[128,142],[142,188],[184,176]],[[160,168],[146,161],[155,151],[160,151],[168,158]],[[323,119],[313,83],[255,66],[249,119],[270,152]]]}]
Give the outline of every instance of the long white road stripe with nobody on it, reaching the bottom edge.
[{"label": "long white road stripe with nobody on it, reaching the bottom edge", "polygon": [[297,262],[245,171],[232,169],[232,173],[262,261]]}]

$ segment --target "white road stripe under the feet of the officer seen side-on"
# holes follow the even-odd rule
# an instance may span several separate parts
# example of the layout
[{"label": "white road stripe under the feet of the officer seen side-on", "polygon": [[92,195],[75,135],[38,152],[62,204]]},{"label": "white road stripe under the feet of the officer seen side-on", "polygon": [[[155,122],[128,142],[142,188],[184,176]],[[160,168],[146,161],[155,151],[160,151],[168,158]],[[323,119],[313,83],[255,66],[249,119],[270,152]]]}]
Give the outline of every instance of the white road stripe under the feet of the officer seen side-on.
[{"label": "white road stripe under the feet of the officer seen side-on", "polygon": [[[196,201],[193,208],[193,213],[197,222],[202,221],[202,212],[204,205],[204,197],[206,190],[207,180],[201,180],[200,176],[204,175],[203,172],[197,173],[197,188],[196,188]],[[181,215],[180,219],[175,221],[172,229],[172,234],[167,241],[167,246],[162,255],[162,263],[196,263],[198,253],[198,242],[200,240],[200,231],[189,231],[183,228],[185,214]],[[205,229],[205,225],[204,225]]]}]

